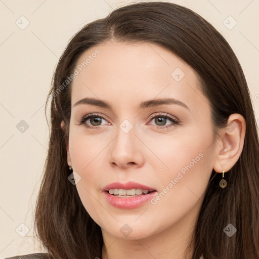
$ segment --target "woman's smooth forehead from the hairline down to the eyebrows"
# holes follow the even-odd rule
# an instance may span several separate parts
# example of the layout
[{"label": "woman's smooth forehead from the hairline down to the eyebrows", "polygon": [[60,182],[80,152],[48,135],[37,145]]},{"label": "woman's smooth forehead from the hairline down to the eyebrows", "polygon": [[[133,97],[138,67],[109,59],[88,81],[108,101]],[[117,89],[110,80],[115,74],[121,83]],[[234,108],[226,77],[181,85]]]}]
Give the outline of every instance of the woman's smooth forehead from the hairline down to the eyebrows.
[{"label": "woman's smooth forehead from the hairline down to the eyebrows", "polygon": [[129,102],[143,96],[195,99],[193,94],[199,91],[197,74],[187,63],[146,42],[107,41],[94,46],[79,57],[76,69],[72,104],[86,96]]}]

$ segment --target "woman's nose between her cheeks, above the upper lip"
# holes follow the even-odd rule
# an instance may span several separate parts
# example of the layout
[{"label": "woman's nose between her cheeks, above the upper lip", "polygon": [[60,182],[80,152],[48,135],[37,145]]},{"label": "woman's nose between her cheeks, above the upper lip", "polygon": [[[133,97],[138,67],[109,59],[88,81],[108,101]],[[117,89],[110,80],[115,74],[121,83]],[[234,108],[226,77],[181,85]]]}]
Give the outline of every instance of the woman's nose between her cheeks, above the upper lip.
[{"label": "woman's nose between her cheeks, above the upper lip", "polygon": [[110,145],[109,162],[121,168],[138,168],[144,164],[143,143],[136,136],[135,126],[127,133],[118,127],[117,136]]}]

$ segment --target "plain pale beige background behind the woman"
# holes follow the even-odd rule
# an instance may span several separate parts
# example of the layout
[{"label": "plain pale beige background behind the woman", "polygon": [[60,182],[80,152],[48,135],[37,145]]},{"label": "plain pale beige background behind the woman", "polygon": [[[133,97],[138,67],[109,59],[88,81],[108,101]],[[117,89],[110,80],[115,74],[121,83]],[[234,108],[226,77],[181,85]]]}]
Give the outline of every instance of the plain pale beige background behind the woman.
[{"label": "plain pale beige background behind the woman", "polygon": [[[197,12],[228,40],[243,67],[258,118],[259,1],[170,2]],[[32,211],[47,155],[44,106],[58,58],[81,26],[127,3],[132,1],[0,0],[0,259],[41,251],[33,243]],[[231,30],[224,24],[229,16],[237,22]],[[29,25],[21,29],[26,19]],[[229,21],[228,26],[234,25]],[[16,126],[21,120],[29,125],[23,133]],[[29,229],[25,237],[19,235],[26,233],[21,224]]]}]

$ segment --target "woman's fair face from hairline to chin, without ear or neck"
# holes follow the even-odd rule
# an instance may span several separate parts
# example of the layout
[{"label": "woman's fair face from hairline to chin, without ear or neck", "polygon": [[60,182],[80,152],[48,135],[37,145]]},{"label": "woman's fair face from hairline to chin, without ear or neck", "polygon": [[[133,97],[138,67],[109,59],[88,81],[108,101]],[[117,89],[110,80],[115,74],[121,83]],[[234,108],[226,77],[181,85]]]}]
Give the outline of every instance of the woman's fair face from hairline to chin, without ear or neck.
[{"label": "woman's fair face from hairline to chin, without ear or neck", "polygon": [[68,163],[90,216],[123,239],[190,231],[216,145],[195,71],[158,45],[108,41],[83,53],[74,75]]}]

